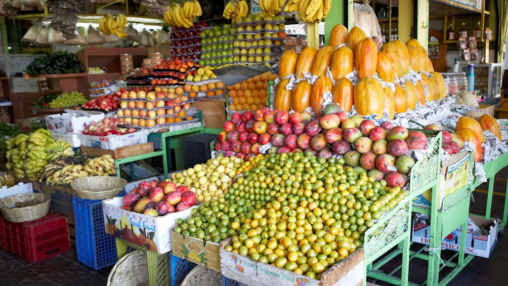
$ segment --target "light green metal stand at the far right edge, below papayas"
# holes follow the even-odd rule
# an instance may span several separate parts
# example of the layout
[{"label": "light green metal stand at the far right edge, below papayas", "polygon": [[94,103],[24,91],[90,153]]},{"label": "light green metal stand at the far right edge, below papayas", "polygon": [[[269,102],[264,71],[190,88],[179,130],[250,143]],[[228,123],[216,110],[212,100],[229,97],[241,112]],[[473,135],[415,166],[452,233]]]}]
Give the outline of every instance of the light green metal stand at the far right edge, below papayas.
[{"label": "light green metal stand at the far right edge, below papayas", "polygon": [[[496,160],[493,160],[483,166],[485,170],[485,176],[489,182],[489,189],[487,192],[487,205],[485,207],[485,215],[474,214],[475,216],[483,217],[486,219],[492,219],[491,210],[492,210],[492,196],[494,194],[494,177],[495,175],[504,167],[508,166],[508,153],[502,154],[497,157]],[[482,183],[478,181],[478,177],[474,177],[474,180],[471,184],[471,190],[474,190]],[[506,185],[506,193],[508,194],[508,185]],[[471,213],[472,214],[472,213]],[[499,233],[504,234],[504,227],[506,226],[506,221],[508,221],[508,196],[504,196],[504,210],[503,217],[499,219]]]}]

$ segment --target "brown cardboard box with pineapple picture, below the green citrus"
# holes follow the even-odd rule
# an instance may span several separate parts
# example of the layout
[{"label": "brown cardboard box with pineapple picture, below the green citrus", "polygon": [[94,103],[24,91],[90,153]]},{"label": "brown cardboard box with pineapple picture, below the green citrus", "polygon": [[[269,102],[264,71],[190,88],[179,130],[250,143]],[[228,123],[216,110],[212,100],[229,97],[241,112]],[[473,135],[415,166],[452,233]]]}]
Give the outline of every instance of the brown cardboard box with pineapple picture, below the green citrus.
[{"label": "brown cardboard box with pineapple picture, below the green citrus", "polygon": [[186,236],[171,231],[171,247],[174,256],[186,259],[199,265],[220,272],[219,244],[204,241],[196,237]]}]

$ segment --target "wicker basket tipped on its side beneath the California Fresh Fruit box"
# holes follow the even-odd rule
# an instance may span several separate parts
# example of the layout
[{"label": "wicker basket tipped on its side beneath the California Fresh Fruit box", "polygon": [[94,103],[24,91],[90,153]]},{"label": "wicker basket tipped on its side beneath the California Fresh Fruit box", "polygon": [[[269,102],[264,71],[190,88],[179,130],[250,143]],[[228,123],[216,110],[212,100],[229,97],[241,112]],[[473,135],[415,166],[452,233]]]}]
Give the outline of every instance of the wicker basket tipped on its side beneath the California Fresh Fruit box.
[{"label": "wicker basket tipped on its side beneath the California Fresh Fruit box", "polygon": [[127,253],[113,266],[108,276],[108,286],[148,285],[146,251]]}]

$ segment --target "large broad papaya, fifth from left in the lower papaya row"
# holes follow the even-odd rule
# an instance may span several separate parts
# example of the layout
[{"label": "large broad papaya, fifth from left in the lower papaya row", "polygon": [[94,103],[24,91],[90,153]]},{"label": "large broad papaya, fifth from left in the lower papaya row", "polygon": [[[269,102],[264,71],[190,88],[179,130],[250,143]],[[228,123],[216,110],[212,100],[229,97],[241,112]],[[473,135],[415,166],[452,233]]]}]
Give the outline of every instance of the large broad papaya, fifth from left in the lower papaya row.
[{"label": "large broad papaya, fifth from left in the lower papaya row", "polygon": [[362,78],[353,89],[353,102],[360,115],[376,114],[383,117],[385,109],[385,91],[379,80],[373,77]]}]

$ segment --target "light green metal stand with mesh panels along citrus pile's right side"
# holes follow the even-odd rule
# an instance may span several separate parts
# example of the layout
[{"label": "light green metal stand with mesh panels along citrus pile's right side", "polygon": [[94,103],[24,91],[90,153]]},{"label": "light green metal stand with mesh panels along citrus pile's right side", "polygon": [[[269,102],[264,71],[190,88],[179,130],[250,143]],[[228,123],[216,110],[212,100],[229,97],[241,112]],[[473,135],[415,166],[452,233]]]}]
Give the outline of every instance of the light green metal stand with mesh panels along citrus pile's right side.
[{"label": "light green metal stand with mesh panels along citrus pile's right side", "polygon": [[[411,168],[409,175],[409,196],[408,202],[400,203],[388,214],[383,216],[376,224],[365,232],[365,279],[376,278],[386,282],[399,285],[408,284],[409,270],[409,245],[411,236],[411,209],[412,199],[432,188],[432,194],[437,194],[439,182],[439,166],[441,162],[441,133],[439,132],[429,144],[428,154],[417,161]],[[437,199],[436,199],[437,200]],[[394,246],[397,248],[388,253]],[[390,273],[379,270],[380,267],[402,254],[402,264]],[[376,263],[378,258],[386,255]],[[394,273],[401,270],[401,277],[394,276]]]}]

